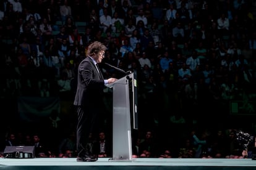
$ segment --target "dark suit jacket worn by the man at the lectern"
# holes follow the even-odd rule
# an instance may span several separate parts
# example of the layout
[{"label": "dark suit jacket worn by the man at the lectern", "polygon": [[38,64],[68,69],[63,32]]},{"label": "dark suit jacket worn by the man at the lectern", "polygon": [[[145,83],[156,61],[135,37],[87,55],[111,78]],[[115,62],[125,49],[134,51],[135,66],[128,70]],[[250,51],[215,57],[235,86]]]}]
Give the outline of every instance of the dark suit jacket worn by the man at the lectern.
[{"label": "dark suit jacket worn by the man at the lectern", "polygon": [[104,79],[96,69],[93,60],[86,57],[79,64],[77,75],[77,91],[74,105],[87,105],[87,107],[101,106],[103,99]]}]

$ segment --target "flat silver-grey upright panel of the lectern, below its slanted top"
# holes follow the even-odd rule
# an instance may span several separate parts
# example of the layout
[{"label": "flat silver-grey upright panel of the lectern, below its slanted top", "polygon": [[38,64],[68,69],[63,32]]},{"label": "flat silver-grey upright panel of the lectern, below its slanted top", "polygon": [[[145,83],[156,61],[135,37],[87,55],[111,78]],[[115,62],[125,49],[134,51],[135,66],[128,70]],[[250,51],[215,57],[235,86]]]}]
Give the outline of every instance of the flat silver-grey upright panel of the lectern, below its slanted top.
[{"label": "flat silver-grey upright panel of the lectern, below its slanted top", "polygon": [[113,160],[132,160],[129,83],[113,85]]}]

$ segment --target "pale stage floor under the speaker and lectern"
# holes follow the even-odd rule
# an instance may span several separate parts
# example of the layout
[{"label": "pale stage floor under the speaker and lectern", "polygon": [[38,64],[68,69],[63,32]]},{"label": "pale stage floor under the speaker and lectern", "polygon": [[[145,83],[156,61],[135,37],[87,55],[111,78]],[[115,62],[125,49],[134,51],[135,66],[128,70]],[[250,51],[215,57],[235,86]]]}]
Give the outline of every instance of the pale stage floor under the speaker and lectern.
[{"label": "pale stage floor under the speaker and lectern", "polygon": [[256,160],[228,158],[135,158],[132,161],[77,162],[76,158],[0,158],[0,169],[256,169]]}]

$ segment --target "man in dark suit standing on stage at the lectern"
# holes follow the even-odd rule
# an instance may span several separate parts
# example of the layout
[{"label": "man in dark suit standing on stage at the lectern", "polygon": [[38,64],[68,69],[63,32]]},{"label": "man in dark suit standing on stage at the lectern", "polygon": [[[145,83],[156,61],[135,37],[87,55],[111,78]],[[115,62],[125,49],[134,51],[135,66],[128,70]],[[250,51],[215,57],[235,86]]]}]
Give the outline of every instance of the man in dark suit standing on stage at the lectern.
[{"label": "man in dark suit standing on stage at the lectern", "polygon": [[105,84],[114,83],[116,78],[104,79],[98,63],[105,57],[106,46],[92,42],[87,57],[78,68],[77,91],[74,105],[77,109],[77,161],[96,161],[97,156],[87,146],[90,133],[98,133],[100,114],[103,113],[103,89]]}]

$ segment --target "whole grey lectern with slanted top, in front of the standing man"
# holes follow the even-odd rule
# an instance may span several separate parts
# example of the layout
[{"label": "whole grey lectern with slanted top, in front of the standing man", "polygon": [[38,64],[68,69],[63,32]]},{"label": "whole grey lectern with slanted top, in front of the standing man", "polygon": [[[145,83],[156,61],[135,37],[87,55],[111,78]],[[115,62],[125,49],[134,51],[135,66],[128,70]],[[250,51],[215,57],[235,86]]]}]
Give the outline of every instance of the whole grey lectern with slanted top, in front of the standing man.
[{"label": "whole grey lectern with slanted top, in front of the standing man", "polygon": [[106,84],[113,88],[113,158],[109,161],[132,161],[131,113],[134,113],[135,107],[134,84],[134,73]]}]

